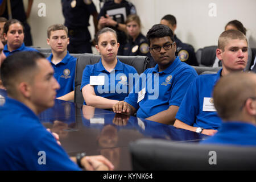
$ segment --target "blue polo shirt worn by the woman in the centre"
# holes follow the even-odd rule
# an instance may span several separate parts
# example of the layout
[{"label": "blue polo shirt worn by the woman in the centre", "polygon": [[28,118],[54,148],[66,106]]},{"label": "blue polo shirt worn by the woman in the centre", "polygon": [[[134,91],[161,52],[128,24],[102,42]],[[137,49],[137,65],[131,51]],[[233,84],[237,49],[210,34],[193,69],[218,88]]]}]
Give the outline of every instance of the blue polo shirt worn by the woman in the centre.
[{"label": "blue polo shirt worn by the woman in the centre", "polygon": [[[86,65],[84,72],[82,72],[80,90],[85,85],[90,84],[90,76],[104,76],[104,85],[94,85],[96,96],[123,101],[134,85],[134,74],[138,75],[136,69],[122,63],[119,59],[117,59],[117,65],[115,65],[115,68],[111,72],[106,71],[100,60],[96,64]],[[85,102],[84,104],[86,105]]]}]

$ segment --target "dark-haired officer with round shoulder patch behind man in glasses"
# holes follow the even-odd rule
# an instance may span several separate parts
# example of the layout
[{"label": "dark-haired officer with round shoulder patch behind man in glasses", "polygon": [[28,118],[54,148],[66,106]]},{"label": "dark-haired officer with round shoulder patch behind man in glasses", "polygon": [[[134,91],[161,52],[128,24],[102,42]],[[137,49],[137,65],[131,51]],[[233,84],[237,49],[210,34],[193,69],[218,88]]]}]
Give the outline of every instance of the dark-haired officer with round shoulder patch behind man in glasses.
[{"label": "dark-haired officer with round shoulder patch behind man in glasses", "polygon": [[[165,15],[160,21],[161,24],[165,24],[168,27],[171,28],[171,30],[174,32],[177,24],[176,24],[176,18],[173,15]],[[180,39],[177,38],[177,36],[174,34],[174,40],[177,45],[177,51],[176,51],[176,56],[180,57],[180,60],[189,64],[189,65],[194,65],[198,66],[198,62],[196,59],[196,54],[194,48],[189,45],[181,42]]]}]

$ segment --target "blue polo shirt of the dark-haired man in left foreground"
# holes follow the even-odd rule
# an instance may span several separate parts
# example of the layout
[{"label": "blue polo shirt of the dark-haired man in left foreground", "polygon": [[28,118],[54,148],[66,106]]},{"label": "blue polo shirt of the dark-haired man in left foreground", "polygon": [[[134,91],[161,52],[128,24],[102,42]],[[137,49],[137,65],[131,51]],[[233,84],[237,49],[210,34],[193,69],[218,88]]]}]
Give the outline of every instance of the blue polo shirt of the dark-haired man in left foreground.
[{"label": "blue polo shirt of the dark-haired man in left foreground", "polygon": [[7,97],[0,115],[0,171],[80,170],[26,105]]}]

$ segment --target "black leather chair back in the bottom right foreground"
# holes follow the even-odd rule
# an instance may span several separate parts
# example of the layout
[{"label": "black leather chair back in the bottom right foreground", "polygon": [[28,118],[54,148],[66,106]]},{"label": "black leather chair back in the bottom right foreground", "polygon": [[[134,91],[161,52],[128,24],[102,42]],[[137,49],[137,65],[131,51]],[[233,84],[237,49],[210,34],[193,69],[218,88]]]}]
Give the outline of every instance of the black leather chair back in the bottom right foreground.
[{"label": "black leather chair back in the bottom right foreground", "polygon": [[130,144],[130,154],[133,170],[256,170],[256,147],[141,139]]}]

